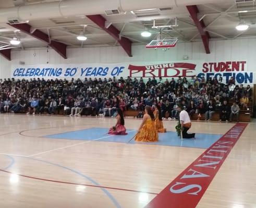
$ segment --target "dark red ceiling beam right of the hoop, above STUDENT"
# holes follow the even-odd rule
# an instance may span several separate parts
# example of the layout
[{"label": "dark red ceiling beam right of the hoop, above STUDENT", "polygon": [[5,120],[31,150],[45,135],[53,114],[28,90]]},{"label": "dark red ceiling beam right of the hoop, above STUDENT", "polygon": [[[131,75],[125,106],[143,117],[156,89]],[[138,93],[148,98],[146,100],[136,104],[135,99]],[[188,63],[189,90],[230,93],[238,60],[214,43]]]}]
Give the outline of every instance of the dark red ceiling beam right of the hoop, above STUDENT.
[{"label": "dark red ceiling beam right of the hoop, above STUDENT", "polygon": [[196,24],[196,26],[199,30],[206,54],[210,54],[209,39],[211,37],[208,32],[204,31],[205,24],[204,24],[203,20],[199,21],[199,19],[198,19],[199,10],[198,10],[197,5],[187,6],[187,9],[189,11],[191,18],[194,21],[194,24]]}]

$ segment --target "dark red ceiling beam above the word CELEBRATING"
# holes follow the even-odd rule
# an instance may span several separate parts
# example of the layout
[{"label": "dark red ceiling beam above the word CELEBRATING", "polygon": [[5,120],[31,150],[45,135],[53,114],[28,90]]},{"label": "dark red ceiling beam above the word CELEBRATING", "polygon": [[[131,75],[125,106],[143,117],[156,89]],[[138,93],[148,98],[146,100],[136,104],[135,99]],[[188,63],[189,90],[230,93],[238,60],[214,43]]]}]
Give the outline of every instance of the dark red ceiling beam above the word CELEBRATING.
[{"label": "dark red ceiling beam above the word CELEBRATING", "polygon": [[46,43],[48,46],[53,48],[60,56],[63,58],[67,59],[67,45],[63,43],[59,43],[57,41],[52,41],[49,40],[48,34],[45,34],[44,32],[40,30],[34,30],[32,31],[33,33],[30,32],[31,25],[27,23],[22,23],[22,24],[9,24],[12,27],[20,30],[21,32],[24,32],[26,34],[29,34],[35,38],[37,38],[40,41],[43,41]]}]

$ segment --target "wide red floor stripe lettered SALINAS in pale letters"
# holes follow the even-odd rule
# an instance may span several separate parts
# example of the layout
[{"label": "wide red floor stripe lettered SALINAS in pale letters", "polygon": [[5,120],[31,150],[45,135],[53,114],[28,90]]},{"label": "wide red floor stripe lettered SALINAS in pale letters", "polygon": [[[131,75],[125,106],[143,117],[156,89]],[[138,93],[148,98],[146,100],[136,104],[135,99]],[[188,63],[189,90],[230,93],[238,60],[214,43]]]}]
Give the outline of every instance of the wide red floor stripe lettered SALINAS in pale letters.
[{"label": "wide red floor stripe lettered SALINAS in pale letters", "polygon": [[248,124],[234,125],[145,208],[194,208]]}]

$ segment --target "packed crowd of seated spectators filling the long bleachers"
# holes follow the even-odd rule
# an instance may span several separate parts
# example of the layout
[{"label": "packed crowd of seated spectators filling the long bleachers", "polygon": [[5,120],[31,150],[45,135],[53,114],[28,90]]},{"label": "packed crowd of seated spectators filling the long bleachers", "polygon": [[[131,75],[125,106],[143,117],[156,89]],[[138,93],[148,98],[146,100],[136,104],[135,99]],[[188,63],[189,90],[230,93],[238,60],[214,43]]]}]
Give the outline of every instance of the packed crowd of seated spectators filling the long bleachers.
[{"label": "packed crowd of seated spectators filling the long bleachers", "polygon": [[182,105],[192,119],[226,121],[233,114],[237,120],[239,114],[250,116],[251,96],[250,85],[236,85],[233,77],[227,84],[222,77],[0,80],[1,113],[115,116],[120,108],[140,117],[145,106],[159,104],[166,119],[178,119],[176,108]]}]

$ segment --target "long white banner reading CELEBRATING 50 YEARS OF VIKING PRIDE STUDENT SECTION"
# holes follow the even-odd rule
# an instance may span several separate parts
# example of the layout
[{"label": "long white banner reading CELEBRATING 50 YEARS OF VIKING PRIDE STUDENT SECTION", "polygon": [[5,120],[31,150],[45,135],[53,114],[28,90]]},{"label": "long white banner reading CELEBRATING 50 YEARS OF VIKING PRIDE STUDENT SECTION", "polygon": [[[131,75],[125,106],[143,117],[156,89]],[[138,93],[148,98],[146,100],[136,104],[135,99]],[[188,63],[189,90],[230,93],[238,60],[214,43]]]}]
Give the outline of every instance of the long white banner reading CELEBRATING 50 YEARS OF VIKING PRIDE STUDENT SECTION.
[{"label": "long white banner reading CELEBRATING 50 YEARS OF VIKING PRIDE STUDENT SECTION", "polygon": [[256,83],[255,73],[247,70],[246,61],[210,62],[175,61],[175,62],[137,62],[137,63],[85,63],[85,64],[39,64],[12,66],[11,77],[15,79],[84,79],[85,77],[192,77],[222,76],[227,83],[231,76],[237,84]]}]

